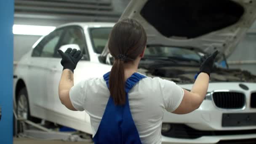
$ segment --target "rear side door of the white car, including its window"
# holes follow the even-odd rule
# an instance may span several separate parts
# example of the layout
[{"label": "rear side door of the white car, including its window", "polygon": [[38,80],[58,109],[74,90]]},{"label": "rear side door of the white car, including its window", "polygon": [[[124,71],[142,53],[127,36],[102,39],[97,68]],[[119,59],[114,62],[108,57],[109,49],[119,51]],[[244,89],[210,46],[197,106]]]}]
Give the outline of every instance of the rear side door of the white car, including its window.
[{"label": "rear side door of the white car, including its window", "polygon": [[51,85],[47,80],[49,70],[51,70],[49,64],[51,63],[51,59],[53,59],[54,49],[59,43],[62,32],[63,29],[54,30],[45,36],[32,50],[28,70],[27,90],[30,98],[31,114],[37,117],[37,110],[48,108],[47,91],[48,85]]}]

